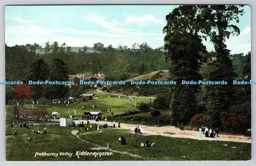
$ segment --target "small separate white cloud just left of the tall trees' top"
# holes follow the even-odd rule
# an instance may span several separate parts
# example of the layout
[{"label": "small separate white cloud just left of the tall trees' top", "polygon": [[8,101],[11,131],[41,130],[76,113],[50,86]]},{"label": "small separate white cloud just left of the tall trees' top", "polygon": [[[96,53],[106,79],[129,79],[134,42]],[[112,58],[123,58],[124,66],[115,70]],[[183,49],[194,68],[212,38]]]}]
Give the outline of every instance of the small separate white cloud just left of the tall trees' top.
[{"label": "small separate white cloud just left of the tall trees' top", "polygon": [[145,16],[141,16],[141,17],[134,17],[134,16],[128,16],[125,21],[125,23],[137,23],[140,25],[145,24],[146,22],[153,22],[153,23],[157,23],[157,24],[163,24],[164,20],[163,19],[157,19],[152,15],[145,15]]}]

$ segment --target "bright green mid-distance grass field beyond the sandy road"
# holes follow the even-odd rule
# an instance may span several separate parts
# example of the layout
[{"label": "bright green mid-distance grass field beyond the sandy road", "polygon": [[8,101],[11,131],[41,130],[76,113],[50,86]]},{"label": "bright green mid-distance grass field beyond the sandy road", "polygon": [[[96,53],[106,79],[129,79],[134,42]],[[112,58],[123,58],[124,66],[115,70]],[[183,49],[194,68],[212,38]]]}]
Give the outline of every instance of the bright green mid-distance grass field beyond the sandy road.
[{"label": "bright green mid-distance grass field beyond the sandy road", "polygon": [[[92,92],[91,92],[92,93]],[[151,101],[148,98],[134,98],[134,101],[132,103],[127,103],[127,101],[130,101],[131,99],[127,97],[121,97],[117,95],[110,95],[105,94],[102,92],[94,92],[94,100],[84,101],[84,102],[78,102],[78,103],[71,103],[69,106],[66,106],[63,103],[60,104],[53,104],[52,107],[47,108],[47,111],[49,114],[52,112],[58,112],[60,114],[60,117],[67,117],[69,115],[74,115],[76,118],[81,118],[84,112],[101,112],[102,109],[107,109],[107,113],[103,113],[103,116],[109,116],[110,115],[110,109],[112,112],[114,112],[114,115],[123,114],[126,112],[126,110],[138,110],[135,106],[135,103],[139,102],[148,102]],[[110,97],[110,98],[109,98]],[[91,105],[95,105],[96,108],[91,108]],[[32,105],[26,105],[28,107],[32,107]],[[82,109],[82,106],[86,106],[86,109]],[[63,108],[64,112],[60,112],[60,110]],[[7,110],[7,123],[10,123],[10,105],[6,106]],[[76,114],[75,114],[76,111]]]}]

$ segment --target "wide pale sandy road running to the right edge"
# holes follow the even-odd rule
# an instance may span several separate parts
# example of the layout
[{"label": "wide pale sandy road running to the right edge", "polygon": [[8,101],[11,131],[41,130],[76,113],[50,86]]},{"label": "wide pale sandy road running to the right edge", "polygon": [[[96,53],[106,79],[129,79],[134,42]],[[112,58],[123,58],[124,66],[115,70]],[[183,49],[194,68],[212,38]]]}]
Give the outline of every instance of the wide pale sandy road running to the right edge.
[{"label": "wide pale sandy road running to the right edge", "polygon": [[[78,124],[79,122],[87,123],[86,120],[76,120],[75,123]],[[106,122],[106,121],[93,121],[89,120],[90,123],[96,123],[103,125],[104,123],[108,124],[108,126],[113,125],[112,122]],[[116,126],[118,126],[118,123],[116,123]],[[125,124],[121,123],[122,129],[128,129],[131,130],[131,132],[134,133],[134,128],[138,125],[133,124]],[[142,133],[143,135],[162,135],[162,136],[170,136],[170,137],[180,137],[180,138],[187,138],[187,139],[196,139],[196,140],[209,140],[209,141],[231,141],[231,142],[241,142],[241,143],[251,143],[251,139],[249,137],[243,136],[243,135],[228,135],[228,134],[220,134],[220,138],[214,139],[214,138],[206,138],[202,137],[200,138],[198,136],[199,132],[197,131],[190,131],[190,130],[180,130],[174,126],[163,126],[163,127],[153,127],[153,126],[142,126]]]}]

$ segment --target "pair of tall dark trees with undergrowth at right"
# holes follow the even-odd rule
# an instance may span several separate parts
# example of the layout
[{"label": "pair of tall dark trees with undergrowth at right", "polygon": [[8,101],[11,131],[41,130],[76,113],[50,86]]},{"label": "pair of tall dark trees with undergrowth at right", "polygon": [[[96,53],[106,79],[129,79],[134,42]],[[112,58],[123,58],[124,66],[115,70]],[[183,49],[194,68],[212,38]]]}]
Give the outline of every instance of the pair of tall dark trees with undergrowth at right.
[{"label": "pair of tall dark trees with undergrowth at right", "polygon": [[[207,124],[209,127],[220,127],[244,132],[250,128],[251,102],[250,86],[205,85],[179,86],[185,80],[227,80],[229,83],[238,78],[230,60],[230,50],[225,44],[230,35],[239,35],[240,29],[233,22],[239,22],[243,15],[243,5],[182,5],[166,16],[164,52],[170,59],[170,75],[178,81],[170,92],[170,108],[173,123]],[[206,48],[202,40],[210,39],[215,51],[215,61],[203,65],[202,54]],[[239,56],[239,55],[236,55]],[[240,69],[240,76],[250,79],[250,52],[245,56],[245,65]],[[242,71],[242,72],[241,72]],[[197,102],[197,94],[202,98]],[[204,109],[198,111],[198,105]],[[230,122],[227,122],[230,121]]]}]

